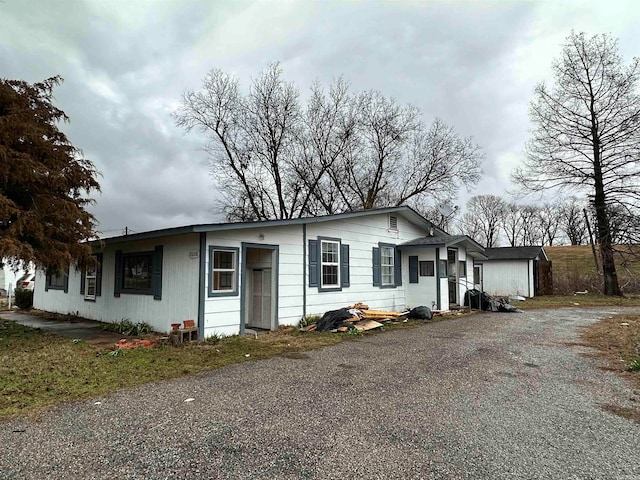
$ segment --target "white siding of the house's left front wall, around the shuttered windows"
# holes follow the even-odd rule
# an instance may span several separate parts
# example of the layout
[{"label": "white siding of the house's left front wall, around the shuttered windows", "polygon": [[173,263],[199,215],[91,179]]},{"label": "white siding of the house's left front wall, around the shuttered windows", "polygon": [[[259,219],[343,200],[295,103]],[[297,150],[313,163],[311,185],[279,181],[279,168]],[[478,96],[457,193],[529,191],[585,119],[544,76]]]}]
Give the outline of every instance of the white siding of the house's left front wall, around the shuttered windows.
[{"label": "white siding of the house's left front wall, around the shuttered windows", "polygon": [[[163,245],[162,299],[153,295],[121,293],[114,297],[115,252],[151,251]],[[80,272],[73,267],[69,272],[69,291],[49,290],[45,292],[45,276],[36,278],[34,307],[49,312],[73,313],[81,317],[118,322],[122,319],[146,322],[157,331],[169,331],[172,323],[198,316],[198,258],[190,253],[198,251],[198,235],[165,237],[144,242],[109,245],[103,252],[102,295],[95,301],[87,301],[80,293]]]}]

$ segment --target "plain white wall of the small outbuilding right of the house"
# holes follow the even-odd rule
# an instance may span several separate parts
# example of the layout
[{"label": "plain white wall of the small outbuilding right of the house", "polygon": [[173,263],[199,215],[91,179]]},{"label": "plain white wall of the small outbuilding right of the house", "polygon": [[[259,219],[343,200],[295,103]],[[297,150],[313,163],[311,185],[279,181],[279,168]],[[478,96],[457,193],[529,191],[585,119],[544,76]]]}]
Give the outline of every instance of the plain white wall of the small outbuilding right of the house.
[{"label": "plain white wall of the small outbuilding right of the house", "polygon": [[489,295],[533,297],[531,260],[484,261],[484,291]]}]

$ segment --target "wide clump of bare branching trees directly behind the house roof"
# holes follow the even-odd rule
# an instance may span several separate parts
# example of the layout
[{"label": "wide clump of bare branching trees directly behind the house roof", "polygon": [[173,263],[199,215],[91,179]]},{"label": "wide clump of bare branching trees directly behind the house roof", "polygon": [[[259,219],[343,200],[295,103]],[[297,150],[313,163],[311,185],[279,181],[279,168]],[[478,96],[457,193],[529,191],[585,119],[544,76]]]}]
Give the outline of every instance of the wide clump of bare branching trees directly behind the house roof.
[{"label": "wide clump of bare branching trees directly behind the house roof", "polygon": [[268,66],[247,94],[212,70],[184,93],[174,117],[208,137],[204,150],[227,219],[294,218],[450,200],[477,182],[483,155],[442,120],[379,92],[354,95],[342,79],[298,90]]}]

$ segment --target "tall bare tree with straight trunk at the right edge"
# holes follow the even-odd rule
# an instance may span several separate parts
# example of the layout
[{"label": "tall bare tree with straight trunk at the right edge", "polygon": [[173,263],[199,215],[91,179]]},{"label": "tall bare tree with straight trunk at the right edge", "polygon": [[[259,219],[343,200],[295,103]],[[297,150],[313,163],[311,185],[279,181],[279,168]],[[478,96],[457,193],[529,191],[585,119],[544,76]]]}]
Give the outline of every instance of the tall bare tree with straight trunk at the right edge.
[{"label": "tall bare tree with straight trunk at the right edge", "polygon": [[552,68],[553,88],[536,87],[533,137],[514,180],[530,190],[587,190],[596,212],[604,293],[622,295],[607,206],[635,210],[640,200],[640,60],[625,67],[609,35],[572,33]]}]

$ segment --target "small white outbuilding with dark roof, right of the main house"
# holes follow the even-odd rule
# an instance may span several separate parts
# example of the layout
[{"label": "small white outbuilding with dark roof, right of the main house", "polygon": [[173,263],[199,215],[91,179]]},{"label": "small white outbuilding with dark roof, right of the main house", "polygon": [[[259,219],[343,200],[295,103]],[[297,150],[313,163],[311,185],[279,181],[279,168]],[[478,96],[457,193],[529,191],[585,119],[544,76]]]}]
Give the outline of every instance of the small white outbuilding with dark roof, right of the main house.
[{"label": "small white outbuilding with dark roof, right of the main house", "polygon": [[544,247],[485,249],[480,260],[481,290],[489,295],[534,297],[552,293],[551,262]]}]

